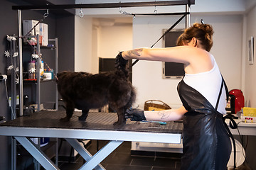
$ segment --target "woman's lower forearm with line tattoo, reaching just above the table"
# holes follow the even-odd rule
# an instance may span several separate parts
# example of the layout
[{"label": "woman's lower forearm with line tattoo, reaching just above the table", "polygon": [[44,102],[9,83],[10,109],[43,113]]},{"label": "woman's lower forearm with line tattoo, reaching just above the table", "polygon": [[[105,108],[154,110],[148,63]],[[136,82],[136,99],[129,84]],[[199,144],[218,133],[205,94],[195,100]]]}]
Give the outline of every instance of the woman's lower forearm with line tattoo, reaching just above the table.
[{"label": "woman's lower forearm with line tattoo, reaching just above the table", "polygon": [[144,111],[144,115],[146,120],[168,122],[173,120],[180,120],[186,112],[186,109],[183,106],[181,106],[181,108],[163,111]]}]

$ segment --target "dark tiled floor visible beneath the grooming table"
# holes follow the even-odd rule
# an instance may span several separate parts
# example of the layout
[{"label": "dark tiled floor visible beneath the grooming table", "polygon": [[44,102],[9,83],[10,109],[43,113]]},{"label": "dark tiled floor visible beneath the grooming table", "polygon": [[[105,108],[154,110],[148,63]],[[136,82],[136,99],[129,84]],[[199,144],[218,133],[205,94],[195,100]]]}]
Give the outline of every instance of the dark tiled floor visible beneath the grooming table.
[{"label": "dark tiled floor visible beneath the grooming table", "polygon": [[[103,147],[107,141],[100,141],[99,147]],[[97,152],[97,142],[92,140],[92,144],[87,150],[93,155]],[[131,155],[131,142],[123,142],[117,149],[102,161],[102,166],[107,170],[178,170],[181,165],[180,155],[175,157],[160,156],[156,153],[150,153],[151,156],[138,154]],[[150,155],[149,154],[149,155]],[[78,158],[73,163],[60,163],[62,170],[79,169],[83,164],[83,159]]]}]

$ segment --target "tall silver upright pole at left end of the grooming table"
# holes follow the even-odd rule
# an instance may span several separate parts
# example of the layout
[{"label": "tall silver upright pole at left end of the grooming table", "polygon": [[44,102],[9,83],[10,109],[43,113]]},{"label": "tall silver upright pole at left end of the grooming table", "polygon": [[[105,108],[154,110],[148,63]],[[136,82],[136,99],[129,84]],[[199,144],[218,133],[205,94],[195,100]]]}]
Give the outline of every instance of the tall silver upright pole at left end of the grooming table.
[{"label": "tall silver upright pole at left end of the grooming table", "polygon": [[18,10],[18,83],[19,83],[19,109],[23,116],[23,67],[22,67],[22,38],[21,38],[21,10]]}]

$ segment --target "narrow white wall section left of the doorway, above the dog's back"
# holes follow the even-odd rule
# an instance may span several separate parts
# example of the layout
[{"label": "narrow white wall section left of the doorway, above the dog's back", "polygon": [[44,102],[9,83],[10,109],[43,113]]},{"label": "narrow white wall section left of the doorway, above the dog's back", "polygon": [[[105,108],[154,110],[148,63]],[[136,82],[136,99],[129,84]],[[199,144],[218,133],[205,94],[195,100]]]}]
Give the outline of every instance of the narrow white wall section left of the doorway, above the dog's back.
[{"label": "narrow white wall section left of the doorway, above the dog's back", "polygon": [[92,71],[92,18],[75,16],[75,72]]}]

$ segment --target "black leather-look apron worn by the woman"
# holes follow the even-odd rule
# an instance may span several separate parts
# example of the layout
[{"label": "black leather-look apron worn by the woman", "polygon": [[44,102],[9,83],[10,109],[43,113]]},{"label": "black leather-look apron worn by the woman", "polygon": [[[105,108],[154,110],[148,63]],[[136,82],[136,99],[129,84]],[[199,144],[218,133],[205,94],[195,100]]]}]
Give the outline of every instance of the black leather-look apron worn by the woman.
[{"label": "black leather-look apron worn by the woman", "polygon": [[[224,81],[224,80],[223,80]],[[220,94],[222,86],[220,88]],[[188,111],[183,117],[181,170],[225,170],[231,153],[230,136],[223,114],[196,89],[178,84],[178,95]]]}]

